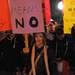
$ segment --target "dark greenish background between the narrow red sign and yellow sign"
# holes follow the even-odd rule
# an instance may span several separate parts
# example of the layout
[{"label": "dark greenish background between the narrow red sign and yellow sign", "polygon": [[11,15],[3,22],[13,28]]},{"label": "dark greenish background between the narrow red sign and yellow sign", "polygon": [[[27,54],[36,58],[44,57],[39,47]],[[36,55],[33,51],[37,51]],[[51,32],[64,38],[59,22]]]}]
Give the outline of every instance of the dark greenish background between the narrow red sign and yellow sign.
[{"label": "dark greenish background between the narrow red sign and yellow sign", "polygon": [[59,25],[63,24],[62,11],[57,8],[58,2],[62,0],[50,0],[51,18],[56,20]]}]

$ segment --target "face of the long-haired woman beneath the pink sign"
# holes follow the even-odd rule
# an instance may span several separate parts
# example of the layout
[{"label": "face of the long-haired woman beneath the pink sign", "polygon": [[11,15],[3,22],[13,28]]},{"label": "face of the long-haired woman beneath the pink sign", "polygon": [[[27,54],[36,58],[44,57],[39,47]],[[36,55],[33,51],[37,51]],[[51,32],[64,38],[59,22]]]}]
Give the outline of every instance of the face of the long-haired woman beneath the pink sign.
[{"label": "face of the long-haired woman beneath the pink sign", "polygon": [[35,45],[42,46],[44,44],[44,36],[42,33],[35,34]]}]

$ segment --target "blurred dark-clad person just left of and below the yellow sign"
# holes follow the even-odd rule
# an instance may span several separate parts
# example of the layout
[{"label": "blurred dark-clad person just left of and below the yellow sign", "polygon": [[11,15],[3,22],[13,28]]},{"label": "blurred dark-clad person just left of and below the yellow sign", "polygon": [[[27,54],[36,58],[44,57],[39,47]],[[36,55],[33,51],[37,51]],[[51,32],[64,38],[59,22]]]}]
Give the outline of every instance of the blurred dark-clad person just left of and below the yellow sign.
[{"label": "blurred dark-clad person just left of and below the yellow sign", "polygon": [[64,38],[65,35],[63,33],[63,28],[58,26],[55,33],[56,58],[62,59],[66,49],[66,40]]}]

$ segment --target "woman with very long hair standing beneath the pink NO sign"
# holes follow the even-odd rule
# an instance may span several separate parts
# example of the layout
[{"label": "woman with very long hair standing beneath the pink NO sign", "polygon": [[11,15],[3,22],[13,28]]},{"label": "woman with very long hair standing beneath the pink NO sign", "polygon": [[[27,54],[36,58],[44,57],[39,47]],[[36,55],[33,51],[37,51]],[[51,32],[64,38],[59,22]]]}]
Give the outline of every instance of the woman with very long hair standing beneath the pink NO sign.
[{"label": "woman with very long hair standing beneath the pink NO sign", "polygon": [[[31,56],[31,63],[32,63],[32,72],[33,75],[50,75],[50,70],[52,72],[51,64],[49,61],[48,55],[48,48],[45,42],[45,36],[43,33],[36,33],[34,34],[34,45],[32,47],[32,56]],[[51,55],[51,54],[50,54]],[[51,57],[50,57],[51,58]],[[52,60],[51,60],[52,61]],[[48,65],[49,62],[49,65]],[[30,74],[31,75],[31,74]],[[57,75],[57,74],[51,74]]]}]

